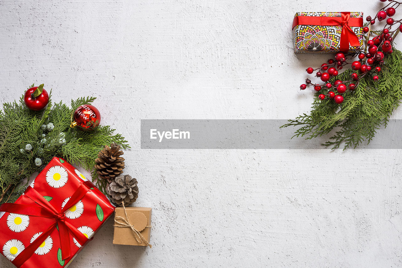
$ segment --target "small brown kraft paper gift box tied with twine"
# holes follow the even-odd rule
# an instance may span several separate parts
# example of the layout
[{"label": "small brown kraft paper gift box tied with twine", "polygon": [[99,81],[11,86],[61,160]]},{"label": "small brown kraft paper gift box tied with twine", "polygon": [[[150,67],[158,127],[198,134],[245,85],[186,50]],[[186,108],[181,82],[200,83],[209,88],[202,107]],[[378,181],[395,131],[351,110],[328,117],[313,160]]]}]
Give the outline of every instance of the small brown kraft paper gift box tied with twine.
[{"label": "small brown kraft paper gift box tied with twine", "polygon": [[[125,211],[127,212],[127,217]],[[117,207],[113,244],[150,246],[151,210],[142,207]],[[125,221],[123,220],[125,219]],[[129,227],[131,225],[133,229]]]}]

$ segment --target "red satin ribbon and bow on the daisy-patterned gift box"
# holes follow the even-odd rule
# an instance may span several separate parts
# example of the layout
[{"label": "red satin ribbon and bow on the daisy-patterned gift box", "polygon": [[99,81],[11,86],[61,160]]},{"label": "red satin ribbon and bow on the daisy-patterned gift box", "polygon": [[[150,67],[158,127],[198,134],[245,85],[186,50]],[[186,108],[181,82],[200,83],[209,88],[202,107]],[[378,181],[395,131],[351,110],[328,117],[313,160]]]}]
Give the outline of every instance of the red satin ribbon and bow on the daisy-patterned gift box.
[{"label": "red satin ribbon and bow on the daisy-patterned gift box", "polygon": [[85,181],[81,183],[76,192],[71,196],[70,200],[68,200],[67,204],[64,206],[62,211],[58,212],[41,194],[39,194],[35,189],[31,188],[29,191],[25,193],[25,196],[31,198],[35,201],[39,206],[36,205],[27,205],[27,204],[15,204],[15,203],[4,203],[0,206],[0,211],[24,214],[29,216],[39,216],[48,219],[55,219],[55,222],[51,224],[46,231],[44,231],[33,243],[27,246],[16,258],[12,261],[12,263],[21,267],[24,262],[26,262],[29,257],[35,252],[35,250],[45,241],[45,239],[53,232],[56,228],[56,225],[59,227],[59,235],[60,235],[60,245],[62,249],[62,259],[71,256],[71,248],[70,248],[70,234],[80,243],[80,245],[84,245],[88,238],[84,234],[82,234],[78,229],[66,221],[66,216],[64,212],[66,212],[69,208],[77,204],[81,198],[88,192],[90,188],[94,187],[94,185],[90,181]]}]

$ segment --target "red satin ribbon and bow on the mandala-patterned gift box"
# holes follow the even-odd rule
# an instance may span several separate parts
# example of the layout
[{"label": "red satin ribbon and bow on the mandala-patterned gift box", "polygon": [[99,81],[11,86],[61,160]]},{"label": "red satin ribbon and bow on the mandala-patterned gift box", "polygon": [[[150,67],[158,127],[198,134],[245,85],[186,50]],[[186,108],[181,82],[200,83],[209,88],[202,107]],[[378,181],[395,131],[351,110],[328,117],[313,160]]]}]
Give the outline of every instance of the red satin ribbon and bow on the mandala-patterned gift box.
[{"label": "red satin ribbon and bow on the mandala-patterned gift box", "polygon": [[363,27],[363,18],[351,18],[351,12],[341,12],[341,17],[295,16],[292,29],[297,25],[342,26],[340,33],[340,51],[348,52],[349,43],[360,46],[360,41],[351,27]]}]

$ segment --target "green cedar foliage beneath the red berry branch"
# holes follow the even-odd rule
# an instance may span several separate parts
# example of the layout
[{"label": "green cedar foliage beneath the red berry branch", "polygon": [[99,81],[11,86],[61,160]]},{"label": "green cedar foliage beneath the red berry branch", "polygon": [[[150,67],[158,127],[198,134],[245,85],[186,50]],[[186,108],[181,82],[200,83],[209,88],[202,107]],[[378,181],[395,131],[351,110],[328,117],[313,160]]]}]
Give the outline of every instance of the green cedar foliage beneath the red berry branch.
[{"label": "green cedar foliage beneath the red berry branch", "polygon": [[[350,80],[353,70],[333,77],[334,80]],[[371,75],[360,79],[355,91],[343,96],[345,101],[336,104],[332,99],[318,99],[316,93],[310,115],[304,113],[295,120],[281,126],[298,126],[293,137],[313,139],[332,133],[324,146],[332,149],[342,144],[346,148],[356,148],[359,144],[373,139],[376,130],[386,127],[392,111],[399,106],[402,99],[402,53],[394,49],[384,59],[384,65],[378,74],[379,81],[374,82]],[[334,130],[335,129],[335,130]],[[292,138],[293,138],[292,137]]]}]

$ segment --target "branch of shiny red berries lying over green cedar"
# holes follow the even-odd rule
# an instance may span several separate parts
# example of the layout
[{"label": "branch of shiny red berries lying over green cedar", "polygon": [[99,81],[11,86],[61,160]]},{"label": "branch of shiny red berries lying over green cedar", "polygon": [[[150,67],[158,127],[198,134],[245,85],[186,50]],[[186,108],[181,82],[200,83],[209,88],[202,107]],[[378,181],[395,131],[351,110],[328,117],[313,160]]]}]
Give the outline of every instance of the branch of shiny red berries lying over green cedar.
[{"label": "branch of shiny red berries lying over green cedar", "polygon": [[[380,0],[381,2],[386,2],[387,0]],[[344,97],[343,94],[346,92],[353,92],[357,86],[359,85],[359,81],[364,76],[370,75],[373,81],[378,81],[378,73],[381,72],[381,66],[384,64],[384,58],[386,54],[391,54],[392,51],[392,41],[394,41],[395,36],[399,31],[402,31],[402,20],[395,21],[391,17],[395,15],[396,8],[402,4],[401,2],[396,2],[393,0],[389,1],[390,3],[382,8],[375,16],[374,19],[371,19],[370,16],[367,16],[366,20],[371,23],[371,25],[375,24],[376,19],[378,21],[384,21],[387,16],[390,18],[387,19],[387,25],[381,31],[379,35],[375,35],[371,40],[367,41],[367,51],[360,51],[352,54],[343,54],[339,52],[335,55],[335,59],[329,59],[328,62],[323,63],[320,68],[307,68],[306,71],[308,74],[312,74],[314,71],[316,72],[316,77],[321,78],[324,85],[314,84],[310,79],[306,79],[306,84],[302,84],[300,86],[301,90],[306,89],[308,86],[313,86],[314,90],[320,92],[322,90],[328,91],[326,94],[318,95],[318,98],[324,100],[326,97],[333,99],[335,103],[343,103]],[[391,6],[390,6],[391,5]],[[385,11],[384,11],[385,10]],[[394,29],[392,31],[392,26],[399,24],[398,29]],[[368,27],[363,28],[364,33],[369,32]],[[358,60],[355,60],[355,57],[358,57]],[[350,65],[353,70],[351,74],[351,80],[341,81],[336,80],[333,84],[329,83],[331,76],[337,76],[338,71],[342,70],[344,66]],[[330,89],[334,88],[334,91]]]}]

